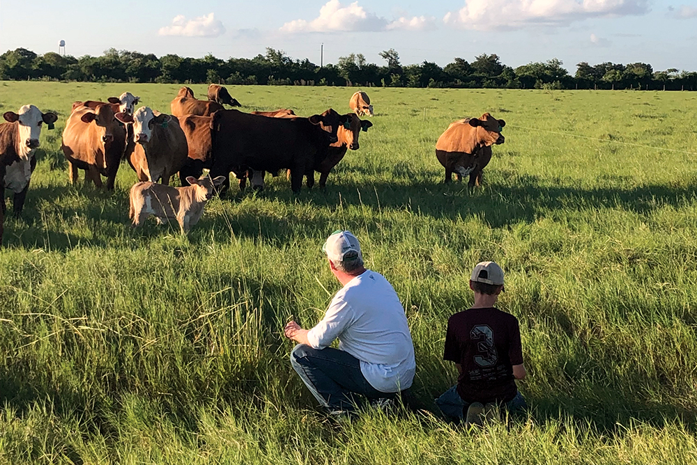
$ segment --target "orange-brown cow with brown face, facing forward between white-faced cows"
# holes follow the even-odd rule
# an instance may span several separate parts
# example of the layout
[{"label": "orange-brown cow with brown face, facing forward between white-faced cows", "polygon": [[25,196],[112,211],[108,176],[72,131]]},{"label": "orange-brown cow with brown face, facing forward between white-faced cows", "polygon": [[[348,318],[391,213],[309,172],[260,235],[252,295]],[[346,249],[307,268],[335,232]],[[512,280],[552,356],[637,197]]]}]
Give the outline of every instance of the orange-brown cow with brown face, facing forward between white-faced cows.
[{"label": "orange-brown cow with brown face, facing forward between white-faced cows", "polygon": [[77,182],[78,170],[82,169],[85,182],[92,181],[102,187],[104,175],[107,189],[112,190],[126,148],[126,131],[114,118],[111,105],[78,108],[68,118],[61,148],[68,159],[72,184]]}]

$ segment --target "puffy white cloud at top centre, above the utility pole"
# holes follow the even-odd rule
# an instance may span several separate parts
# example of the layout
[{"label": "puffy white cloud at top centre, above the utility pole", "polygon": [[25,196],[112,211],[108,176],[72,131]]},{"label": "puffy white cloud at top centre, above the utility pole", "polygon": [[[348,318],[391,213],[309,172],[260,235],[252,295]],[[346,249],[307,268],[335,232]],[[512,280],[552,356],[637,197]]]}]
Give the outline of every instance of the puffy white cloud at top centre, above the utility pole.
[{"label": "puffy white cloud at top centre, above the utility pole", "polygon": [[435,19],[432,17],[400,17],[389,22],[388,19],[379,17],[375,13],[367,12],[358,1],[348,6],[342,5],[339,0],[329,0],[319,10],[319,16],[311,21],[295,19],[281,26],[281,31],[295,32],[332,32],[332,31],[392,31],[402,29],[406,31],[424,31],[434,29]]}]

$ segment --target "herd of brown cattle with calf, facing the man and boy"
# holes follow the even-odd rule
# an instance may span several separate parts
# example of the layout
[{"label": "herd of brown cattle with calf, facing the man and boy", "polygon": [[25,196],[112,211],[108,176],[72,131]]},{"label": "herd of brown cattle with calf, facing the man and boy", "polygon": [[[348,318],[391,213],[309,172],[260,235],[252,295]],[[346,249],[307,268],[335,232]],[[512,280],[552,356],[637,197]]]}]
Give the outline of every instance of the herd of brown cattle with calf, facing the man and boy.
[{"label": "herd of brown cattle with calf, facing the man and boy", "polygon": [[[226,88],[211,84],[208,100],[198,100],[182,87],[171,101],[171,114],[150,107],[135,110],[140,98],[129,92],[107,102],[75,102],[63,130],[61,148],[68,160],[69,177],[77,182],[79,170],[85,180],[114,189],[122,159],[135,171],[139,182],[130,191],[130,218],[138,226],[148,215],[176,219],[187,232],[201,216],[203,205],[215,190],[229,189],[234,173],[240,189],[250,180],[263,188],[265,173],[286,171],[293,192],[300,191],[302,178],[314,185],[315,171],[325,187],[332,168],[348,149],[358,150],[358,136],[372,127],[360,116],[373,116],[365,92],[349,100],[353,113],[341,115],[333,109],[307,118],[290,109],[245,113],[224,109],[240,107]],[[14,193],[15,215],[29,189],[36,166],[34,151],[39,145],[43,123],[52,129],[55,113],[42,113],[24,105],[17,113],[3,114],[0,124],[0,245],[2,244],[5,189]],[[479,185],[482,170],[491,159],[491,145],[503,143],[503,120],[484,113],[452,123],[436,143],[436,157],[445,168],[445,182],[470,176],[469,185]],[[208,176],[201,178],[204,170]],[[182,187],[169,187],[178,173]],[[160,184],[155,184],[160,182]]]}]

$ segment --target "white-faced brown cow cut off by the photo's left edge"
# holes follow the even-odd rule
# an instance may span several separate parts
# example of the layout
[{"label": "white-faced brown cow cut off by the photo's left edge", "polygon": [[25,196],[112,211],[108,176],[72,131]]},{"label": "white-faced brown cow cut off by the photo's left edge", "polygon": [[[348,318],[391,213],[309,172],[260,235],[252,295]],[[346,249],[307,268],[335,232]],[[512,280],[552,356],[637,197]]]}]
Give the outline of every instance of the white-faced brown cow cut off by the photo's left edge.
[{"label": "white-faced brown cow cut off by the photo's left edge", "polygon": [[5,219],[5,188],[15,193],[13,210],[15,216],[22,213],[26,192],[29,190],[31,173],[36,167],[34,152],[39,146],[41,125],[49,129],[58,120],[56,113],[41,113],[33,105],[24,105],[20,111],[3,114],[7,123],[0,124],[0,245],[2,245]]}]

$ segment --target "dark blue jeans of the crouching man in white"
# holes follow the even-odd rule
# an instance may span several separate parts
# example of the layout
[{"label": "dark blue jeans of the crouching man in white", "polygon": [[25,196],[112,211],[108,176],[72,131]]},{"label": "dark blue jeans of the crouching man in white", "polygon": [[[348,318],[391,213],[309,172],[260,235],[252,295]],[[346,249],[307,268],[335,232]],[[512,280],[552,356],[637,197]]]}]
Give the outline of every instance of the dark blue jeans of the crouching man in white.
[{"label": "dark blue jeans of the crouching man in white", "polygon": [[317,401],[329,411],[355,411],[354,395],[368,399],[395,397],[370,385],[360,371],[360,361],[339,349],[313,349],[298,344],[291,352],[291,365]]}]

